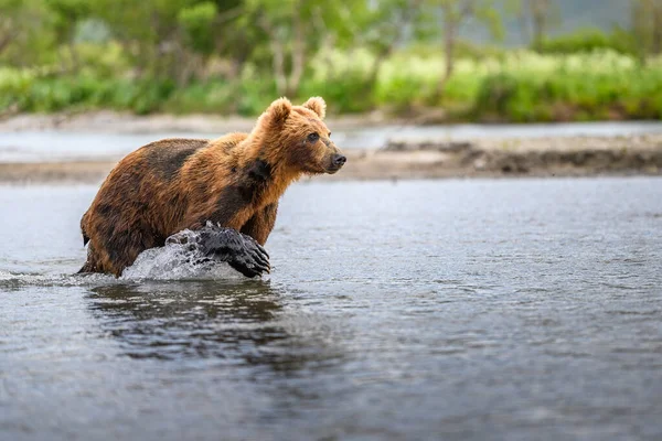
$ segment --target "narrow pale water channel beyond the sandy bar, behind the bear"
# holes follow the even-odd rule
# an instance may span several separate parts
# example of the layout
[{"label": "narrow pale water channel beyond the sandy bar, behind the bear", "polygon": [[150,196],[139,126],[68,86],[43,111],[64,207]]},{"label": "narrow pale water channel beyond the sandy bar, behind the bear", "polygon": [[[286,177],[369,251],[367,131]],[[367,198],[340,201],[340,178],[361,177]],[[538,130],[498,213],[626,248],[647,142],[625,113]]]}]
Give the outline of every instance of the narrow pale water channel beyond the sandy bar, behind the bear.
[{"label": "narrow pale water channel beyond the sandy bar, behind the bear", "polygon": [[[480,138],[540,138],[576,136],[630,136],[662,133],[658,121],[572,122],[533,125],[380,126],[333,130],[334,142],[344,149],[377,149],[389,139],[466,140]],[[164,138],[214,138],[222,133],[97,133],[74,131],[19,131],[0,133],[1,162],[118,160],[149,142]]]}]

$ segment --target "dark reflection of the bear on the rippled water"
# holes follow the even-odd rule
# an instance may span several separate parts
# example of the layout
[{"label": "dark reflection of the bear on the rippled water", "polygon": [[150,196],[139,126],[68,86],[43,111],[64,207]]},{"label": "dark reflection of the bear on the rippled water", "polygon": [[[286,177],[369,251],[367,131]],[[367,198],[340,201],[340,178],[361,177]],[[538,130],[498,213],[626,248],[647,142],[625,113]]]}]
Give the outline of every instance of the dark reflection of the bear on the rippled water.
[{"label": "dark reflection of the bear on the rippled water", "polygon": [[131,358],[213,358],[289,373],[339,357],[282,325],[282,292],[267,281],[150,282],[90,291],[90,312]]}]

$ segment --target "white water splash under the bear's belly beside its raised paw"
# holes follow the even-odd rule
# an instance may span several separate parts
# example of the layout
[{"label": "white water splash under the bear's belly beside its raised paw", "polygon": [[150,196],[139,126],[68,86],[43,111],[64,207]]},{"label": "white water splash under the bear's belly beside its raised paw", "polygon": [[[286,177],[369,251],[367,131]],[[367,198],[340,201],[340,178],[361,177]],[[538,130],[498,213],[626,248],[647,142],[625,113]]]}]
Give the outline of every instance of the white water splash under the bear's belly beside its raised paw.
[{"label": "white water splash under the bear's belly beside its raised paw", "polygon": [[[205,257],[195,246],[197,233],[189,229],[178,233],[182,243],[167,243],[164,247],[142,251],[134,265],[121,273],[121,280],[242,280],[238,271],[223,261]],[[188,240],[181,240],[188,237]]]}]

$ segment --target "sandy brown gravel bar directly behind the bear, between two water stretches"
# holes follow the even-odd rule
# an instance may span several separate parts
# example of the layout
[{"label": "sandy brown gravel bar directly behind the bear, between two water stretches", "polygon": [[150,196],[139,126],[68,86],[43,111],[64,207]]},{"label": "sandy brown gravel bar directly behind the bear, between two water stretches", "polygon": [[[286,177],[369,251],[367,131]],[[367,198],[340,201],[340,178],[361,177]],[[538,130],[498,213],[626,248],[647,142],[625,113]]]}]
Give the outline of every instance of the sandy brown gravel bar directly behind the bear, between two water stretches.
[{"label": "sandy brown gravel bar directly behind the bear, between two water stretches", "polygon": [[[392,139],[348,149],[345,168],[314,179],[407,180],[505,176],[662,175],[662,135],[447,140]],[[0,182],[97,183],[116,161],[0,163]]]}]

